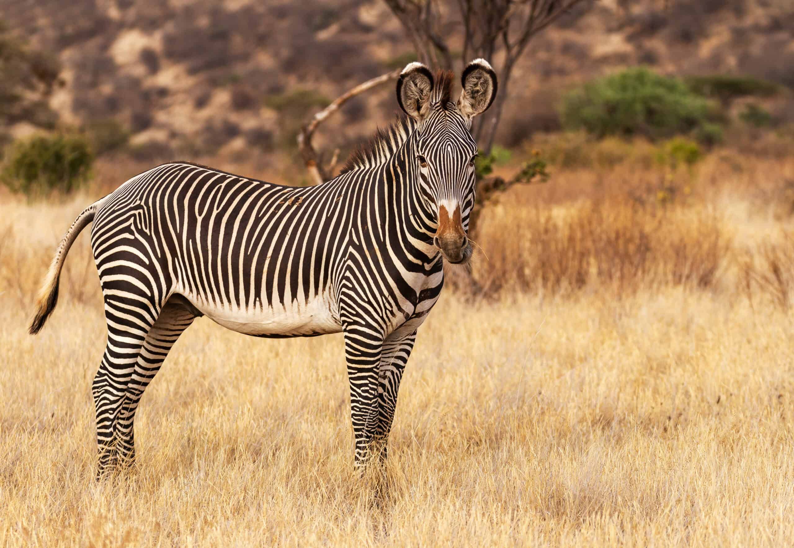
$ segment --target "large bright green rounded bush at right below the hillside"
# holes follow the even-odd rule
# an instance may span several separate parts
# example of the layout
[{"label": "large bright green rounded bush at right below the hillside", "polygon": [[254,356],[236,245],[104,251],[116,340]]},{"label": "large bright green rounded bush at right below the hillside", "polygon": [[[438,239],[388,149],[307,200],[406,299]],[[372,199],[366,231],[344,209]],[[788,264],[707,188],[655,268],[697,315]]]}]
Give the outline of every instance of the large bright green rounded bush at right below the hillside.
[{"label": "large bright green rounded bush at right below the hillside", "polygon": [[700,129],[719,119],[719,112],[680,79],[629,68],[566,94],[561,118],[566,128],[585,129],[596,137],[657,140]]}]

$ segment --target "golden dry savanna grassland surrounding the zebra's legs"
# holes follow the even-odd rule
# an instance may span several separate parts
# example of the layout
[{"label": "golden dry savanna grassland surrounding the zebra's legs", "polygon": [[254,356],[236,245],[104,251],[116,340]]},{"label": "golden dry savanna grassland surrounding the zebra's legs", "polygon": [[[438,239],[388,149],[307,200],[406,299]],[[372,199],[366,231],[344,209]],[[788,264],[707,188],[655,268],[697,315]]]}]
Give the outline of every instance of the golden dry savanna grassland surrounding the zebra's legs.
[{"label": "golden dry savanna grassland surrounding the zebra's legs", "polygon": [[476,284],[452,272],[419,332],[384,478],[353,471],[340,336],[200,318],[137,412],[137,471],[94,481],[86,234],[48,326],[26,326],[62,233],[136,171],[105,161],[67,201],[0,195],[0,543],[790,542],[794,159],[726,146],[681,168],[622,146],[488,205]]}]

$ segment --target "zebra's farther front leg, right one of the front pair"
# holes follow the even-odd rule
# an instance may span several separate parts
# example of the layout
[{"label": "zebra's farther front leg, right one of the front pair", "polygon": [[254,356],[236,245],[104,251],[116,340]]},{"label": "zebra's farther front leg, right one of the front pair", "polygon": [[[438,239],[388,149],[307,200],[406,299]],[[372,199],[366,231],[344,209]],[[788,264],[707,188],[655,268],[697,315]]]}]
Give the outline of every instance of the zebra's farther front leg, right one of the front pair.
[{"label": "zebra's farther front leg, right one of the front pair", "polygon": [[399,383],[415,341],[416,331],[413,331],[407,335],[391,334],[384,342],[378,371],[378,423],[373,443],[383,462],[386,461],[391,423],[395,418]]}]

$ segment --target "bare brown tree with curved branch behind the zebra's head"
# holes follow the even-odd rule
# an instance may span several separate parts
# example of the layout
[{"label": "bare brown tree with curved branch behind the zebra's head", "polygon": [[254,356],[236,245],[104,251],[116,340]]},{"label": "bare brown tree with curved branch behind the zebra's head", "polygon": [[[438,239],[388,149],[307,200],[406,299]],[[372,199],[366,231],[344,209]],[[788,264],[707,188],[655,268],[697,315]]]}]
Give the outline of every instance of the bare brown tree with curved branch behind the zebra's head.
[{"label": "bare brown tree with curved branch behind the zebra's head", "polygon": [[[402,23],[407,37],[414,45],[418,59],[437,68],[462,68],[476,57],[482,57],[497,68],[499,94],[494,106],[476,121],[473,136],[480,146],[490,152],[502,110],[509,96],[511,76],[518,59],[526,51],[535,34],[552,25],[572,9],[587,10],[596,0],[384,0]],[[460,29],[461,33],[457,33]],[[463,38],[460,57],[454,58],[449,38]],[[496,63],[501,60],[501,64]],[[314,183],[330,179],[336,165],[335,151],[329,165],[323,165],[314,150],[311,137],[318,125],[337,111],[350,98],[396,79],[399,70],[387,72],[345,92],[324,110],[315,114],[298,136],[299,149]],[[499,177],[480,181],[477,203],[469,223],[470,235],[476,235],[480,211],[495,196],[519,183],[545,181],[545,164],[535,158],[528,161],[511,179]]]}]

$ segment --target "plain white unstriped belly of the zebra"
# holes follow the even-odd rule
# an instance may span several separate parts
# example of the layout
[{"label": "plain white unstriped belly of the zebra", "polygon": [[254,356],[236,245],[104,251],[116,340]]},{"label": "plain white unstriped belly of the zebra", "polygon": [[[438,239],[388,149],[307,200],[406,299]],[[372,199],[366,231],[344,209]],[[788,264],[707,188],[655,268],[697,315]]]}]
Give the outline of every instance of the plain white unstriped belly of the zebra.
[{"label": "plain white unstriped belly of the zebra", "polygon": [[[187,295],[186,295],[187,296]],[[214,303],[191,303],[207,318],[227,329],[256,337],[311,337],[341,332],[333,306],[322,298],[309,303],[276,303],[274,307],[220,307]]]}]

